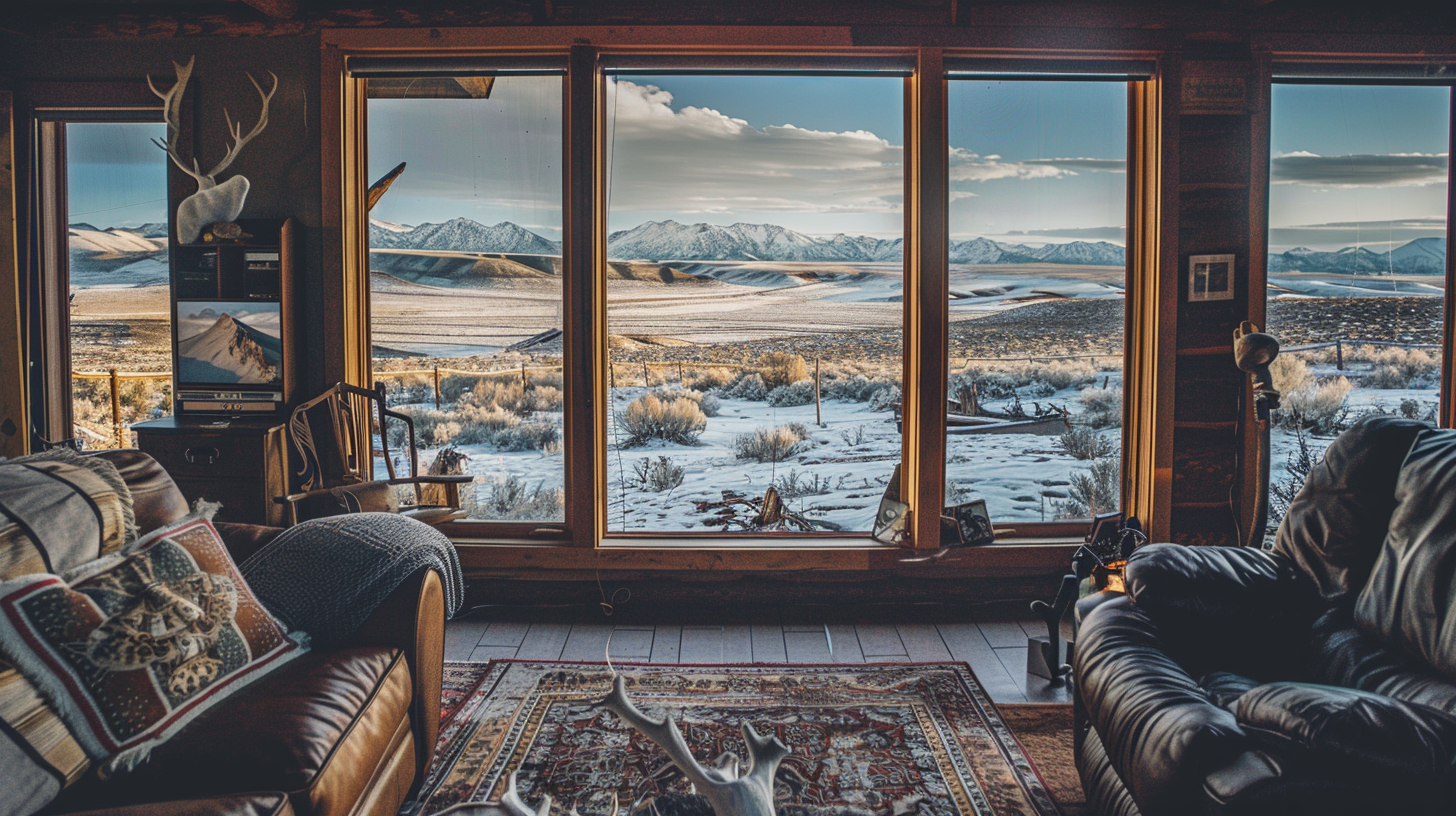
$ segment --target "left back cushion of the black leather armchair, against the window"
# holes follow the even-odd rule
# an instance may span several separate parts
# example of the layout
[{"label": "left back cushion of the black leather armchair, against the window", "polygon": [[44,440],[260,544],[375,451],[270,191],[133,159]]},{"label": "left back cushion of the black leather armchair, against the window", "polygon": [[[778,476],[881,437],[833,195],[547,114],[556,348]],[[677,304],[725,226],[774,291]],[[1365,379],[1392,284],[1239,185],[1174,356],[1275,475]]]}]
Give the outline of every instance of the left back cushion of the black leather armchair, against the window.
[{"label": "left back cushion of the black leather armchair, against the window", "polygon": [[1278,526],[1274,551],[1313,578],[1325,600],[1351,600],[1366,584],[1395,510],[1390,488],[1411,443],[1428,430],[1414,420],[1363,420],[1309,471]]}]

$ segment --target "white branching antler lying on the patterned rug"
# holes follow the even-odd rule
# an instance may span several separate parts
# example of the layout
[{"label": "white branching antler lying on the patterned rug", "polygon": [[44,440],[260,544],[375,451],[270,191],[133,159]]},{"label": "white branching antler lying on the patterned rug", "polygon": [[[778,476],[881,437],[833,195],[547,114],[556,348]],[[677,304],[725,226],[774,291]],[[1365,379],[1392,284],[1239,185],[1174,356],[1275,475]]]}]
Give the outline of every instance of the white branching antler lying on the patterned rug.
[{"label": "white branching antler lying on the patterned rug", "polygon": [[661,746],[683,777],[708,799],[716,816],[775,816],[773,777],[779,772],[779,762],[789,755],[788,746],[778,737],[759,736],[750,723],[743,723],[748,768],[740,774],[738,756],[734,753],[724,753],[712,766],[700,765],[689,750],[687,740],[683,739],[683,731],[671,714],[654,720],[628,699],[626,680],[622,675],[613,676],[612,694],[600,705]]}]

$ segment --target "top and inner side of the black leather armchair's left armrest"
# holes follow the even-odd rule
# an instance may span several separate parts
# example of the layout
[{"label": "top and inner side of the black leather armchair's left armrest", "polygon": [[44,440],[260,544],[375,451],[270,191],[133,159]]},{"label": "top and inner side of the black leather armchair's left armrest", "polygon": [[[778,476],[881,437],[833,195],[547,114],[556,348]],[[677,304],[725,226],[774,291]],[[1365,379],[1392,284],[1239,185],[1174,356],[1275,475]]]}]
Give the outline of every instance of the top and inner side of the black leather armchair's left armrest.
[{"label": "top and inner side of the black leather armchair's left armrest", "polygon": [[1319,595],[1281,555],[1155,544],[1127,560],[1124,581],[1194,675],[1222,669],[1290,679],[1305,670]]}]

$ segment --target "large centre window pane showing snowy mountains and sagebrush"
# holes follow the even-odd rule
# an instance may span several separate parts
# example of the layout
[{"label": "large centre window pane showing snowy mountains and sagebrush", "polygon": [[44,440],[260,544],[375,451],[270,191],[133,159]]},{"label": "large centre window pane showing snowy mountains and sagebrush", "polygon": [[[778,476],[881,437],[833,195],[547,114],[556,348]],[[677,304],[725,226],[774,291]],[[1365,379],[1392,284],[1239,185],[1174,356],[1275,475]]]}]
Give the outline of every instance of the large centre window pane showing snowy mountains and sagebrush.
[{"label": "large centre window pane showing snowy mountains and sagebrush", "polygon": [[607,529],[868,532],[900,462],[901,79],[607,89]]}]

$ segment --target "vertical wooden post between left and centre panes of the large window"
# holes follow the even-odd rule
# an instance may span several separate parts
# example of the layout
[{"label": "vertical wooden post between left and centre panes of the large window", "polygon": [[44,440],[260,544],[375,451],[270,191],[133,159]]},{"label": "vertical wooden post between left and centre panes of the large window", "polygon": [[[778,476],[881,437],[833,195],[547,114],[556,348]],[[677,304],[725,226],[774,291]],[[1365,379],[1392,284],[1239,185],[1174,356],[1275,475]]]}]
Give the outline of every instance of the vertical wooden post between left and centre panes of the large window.
[{"label": "vertical wooden post between left and centre panes of the large window", "polygon": [[566,525],[578,548],[606,535],[606,89],[598,52],[571,48],[562,138],[562,325],[566,369]]}]

